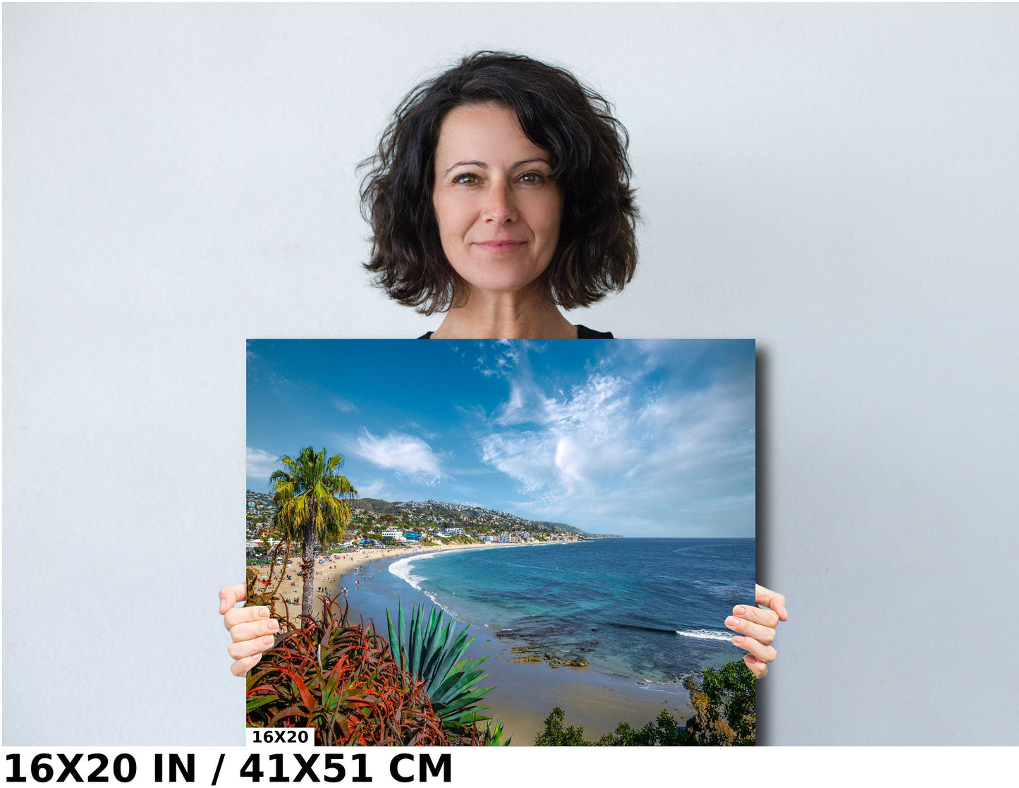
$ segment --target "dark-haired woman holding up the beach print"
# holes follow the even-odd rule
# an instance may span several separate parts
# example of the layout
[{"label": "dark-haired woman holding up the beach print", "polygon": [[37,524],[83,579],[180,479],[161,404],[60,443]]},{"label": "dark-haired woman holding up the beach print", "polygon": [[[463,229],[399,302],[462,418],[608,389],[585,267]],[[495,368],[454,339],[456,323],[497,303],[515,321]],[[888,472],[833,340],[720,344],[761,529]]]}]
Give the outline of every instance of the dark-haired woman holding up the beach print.
[{"label": "dark-haired woman holding up the beach print", "polygon": [[[607,101],[569,71],[522,55],[478,52],[415,88],[397,107],[362,187],[373,229],[365,267],[399,303],[444,313],[421,338],[609,338],[559,311],[630,281],[637,207],[626,129]],[[233,609],[223,588],[231,671],[272,645],[278,622]],[[774,660],[782,594],[726,620],[757,678]]]}]

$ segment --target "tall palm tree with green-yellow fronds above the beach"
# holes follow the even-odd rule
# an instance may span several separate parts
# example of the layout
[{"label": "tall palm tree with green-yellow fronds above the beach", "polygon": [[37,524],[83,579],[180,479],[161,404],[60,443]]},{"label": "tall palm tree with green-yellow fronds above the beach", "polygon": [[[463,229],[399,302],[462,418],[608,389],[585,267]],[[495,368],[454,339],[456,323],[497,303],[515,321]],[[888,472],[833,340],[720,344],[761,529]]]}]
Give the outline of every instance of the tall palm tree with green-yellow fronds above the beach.
[{"label": "tall palm tree with green-yellow fronds above the beach", "polygon": [[343,538],[351,521],[347,500],[358,491],[345,476],[336,473],[343,467],[342,455],[326,459],[326,451],[316,453],[305,446],[294,460],[281,457],[283,470],[273,471],[272,503],[276,505],[275,524],[280,531],[301,542],[301,577],[304,580],[301,615],[312,615],[315,585],[315,542],[328,545]]}]

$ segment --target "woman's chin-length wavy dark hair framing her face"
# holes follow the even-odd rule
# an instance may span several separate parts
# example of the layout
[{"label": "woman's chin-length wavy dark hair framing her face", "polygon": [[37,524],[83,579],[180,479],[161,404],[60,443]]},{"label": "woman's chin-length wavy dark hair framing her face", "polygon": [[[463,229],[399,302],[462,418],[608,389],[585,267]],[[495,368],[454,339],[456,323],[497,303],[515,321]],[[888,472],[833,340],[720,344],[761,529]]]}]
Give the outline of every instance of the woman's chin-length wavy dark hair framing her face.
[{"label": "woman's chin-length wavy dark hair framing her face", "polygon": [[465,105],[513,109],[524,134],[552,154],[562,201],[559,242],[543,275],[565,309],[621,291],[637,265],[639,218],[627,159],[627,129],[611,105],[569,71],[525,55],[475,52],[400,102],[361,183],[361,211],[372,225],[365,267],[400,304],[430,315],[460,305],[464,282],[439,241],[432,206],[434,157],[446,114]]}]

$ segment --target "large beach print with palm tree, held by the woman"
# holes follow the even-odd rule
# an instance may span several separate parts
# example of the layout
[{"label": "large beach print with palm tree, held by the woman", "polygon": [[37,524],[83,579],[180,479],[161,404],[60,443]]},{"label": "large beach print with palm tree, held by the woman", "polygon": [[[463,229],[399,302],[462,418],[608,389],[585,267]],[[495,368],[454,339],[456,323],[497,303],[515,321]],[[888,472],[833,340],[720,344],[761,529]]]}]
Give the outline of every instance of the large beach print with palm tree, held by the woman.
[{"label": "large beach print with palm tree, held by the woman", "polygon": [[251,727],[746,745],[749,339],[247,343]]}]

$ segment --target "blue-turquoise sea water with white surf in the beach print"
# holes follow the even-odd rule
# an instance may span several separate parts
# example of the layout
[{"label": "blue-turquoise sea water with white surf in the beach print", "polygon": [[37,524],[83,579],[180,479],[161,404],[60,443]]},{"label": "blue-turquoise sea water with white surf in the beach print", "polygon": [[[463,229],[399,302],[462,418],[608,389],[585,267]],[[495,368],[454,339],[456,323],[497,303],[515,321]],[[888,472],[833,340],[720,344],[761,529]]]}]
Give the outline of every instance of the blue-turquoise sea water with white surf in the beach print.
[{"label": "blue-turquoise sea water with white surf in the beach print", "polygon": [[389,572],[507,647],[673,684],[745,653],[723,622],[753,602],[754,563],[753,539],[600,539],[413,556]]}]

